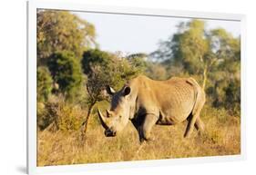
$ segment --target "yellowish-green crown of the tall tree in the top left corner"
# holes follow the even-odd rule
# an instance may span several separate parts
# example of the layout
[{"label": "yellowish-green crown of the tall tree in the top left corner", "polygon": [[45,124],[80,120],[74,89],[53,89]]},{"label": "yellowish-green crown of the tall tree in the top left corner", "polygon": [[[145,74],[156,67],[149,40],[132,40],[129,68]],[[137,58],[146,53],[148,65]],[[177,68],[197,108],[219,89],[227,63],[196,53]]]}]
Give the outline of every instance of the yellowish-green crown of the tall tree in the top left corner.
[{"label": "yellowish-green crown of the tall tree in the top left corner", "polygon": [[67,11],[38,10],[36,26],[39,65],[45,64],[52,53],[64,50],[80,59],[85,49],[97,45],[94,25]]}]

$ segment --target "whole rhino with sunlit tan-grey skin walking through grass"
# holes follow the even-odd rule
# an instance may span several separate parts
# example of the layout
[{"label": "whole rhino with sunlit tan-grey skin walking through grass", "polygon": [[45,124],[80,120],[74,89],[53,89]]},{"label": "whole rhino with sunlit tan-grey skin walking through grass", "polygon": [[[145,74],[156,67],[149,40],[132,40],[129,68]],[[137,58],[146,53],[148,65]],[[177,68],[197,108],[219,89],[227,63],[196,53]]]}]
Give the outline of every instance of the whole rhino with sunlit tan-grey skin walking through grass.
[{"label": "whole rhino with sunlit tan-grey skin walking through grass", "polygon": [[204,130],[200,111],[205,93],[193,78],[173,77],[167,81],[154,81],[146,76],[132,79],[119,92],[107,89],[112,95],[110,111],[105,117],[98,110],[106,136],[115,136],[131,120],[138,130],[139,140],[150,140],[155,124],[174,125],[188,121],[184,137],[189,137],[194,126]]}]

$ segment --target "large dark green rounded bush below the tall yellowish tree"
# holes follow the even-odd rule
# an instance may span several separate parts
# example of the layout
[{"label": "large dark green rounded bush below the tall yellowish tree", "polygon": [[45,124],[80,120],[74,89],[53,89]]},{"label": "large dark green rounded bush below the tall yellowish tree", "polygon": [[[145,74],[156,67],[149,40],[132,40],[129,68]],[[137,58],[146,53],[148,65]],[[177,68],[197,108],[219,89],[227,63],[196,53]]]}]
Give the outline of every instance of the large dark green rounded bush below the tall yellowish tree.
[{"label": "large dark green rounded bush below the tall yellowish tree", "polygon": [[47,63],[59,90],[71,99],[79,95],[82,88],[83,75],[79,61],[73,53],[53,53]]}]

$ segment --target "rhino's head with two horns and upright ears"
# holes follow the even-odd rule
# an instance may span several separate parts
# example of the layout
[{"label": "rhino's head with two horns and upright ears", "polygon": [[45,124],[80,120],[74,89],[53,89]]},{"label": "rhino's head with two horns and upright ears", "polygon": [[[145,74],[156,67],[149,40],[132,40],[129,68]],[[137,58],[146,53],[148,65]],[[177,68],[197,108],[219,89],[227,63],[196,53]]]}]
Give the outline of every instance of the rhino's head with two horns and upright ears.
[{"label": "rhino's head with two horns and upright ears", "polygon": [[97,113],[102,126],[105,128],[105,135],[113,137],[128,124],[131,112],[131,88],[125,85],[120,91],[115,92],[114,89],[107,86],[107,92],[111,95],[110,110],[106,110],[106,116],[99,109],[97,109]]}]

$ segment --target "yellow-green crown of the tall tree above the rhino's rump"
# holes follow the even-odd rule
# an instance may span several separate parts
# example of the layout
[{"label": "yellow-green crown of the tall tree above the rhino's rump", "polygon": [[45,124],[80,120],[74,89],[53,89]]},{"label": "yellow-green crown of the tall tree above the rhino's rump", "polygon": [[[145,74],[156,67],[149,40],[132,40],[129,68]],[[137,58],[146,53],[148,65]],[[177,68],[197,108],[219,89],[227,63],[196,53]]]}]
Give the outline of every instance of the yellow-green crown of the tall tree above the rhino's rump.
[{"label": "yellow-green crown of the tall tree above the rhino's rump", "polygon": [[205,23],[191,20],[178,25],[178,32],[161,42],[159,50],[151,56],[160,61],[182,67],[186,73],[200,73],[203,56],[209,52],[209,42],[205,38]]}]

